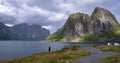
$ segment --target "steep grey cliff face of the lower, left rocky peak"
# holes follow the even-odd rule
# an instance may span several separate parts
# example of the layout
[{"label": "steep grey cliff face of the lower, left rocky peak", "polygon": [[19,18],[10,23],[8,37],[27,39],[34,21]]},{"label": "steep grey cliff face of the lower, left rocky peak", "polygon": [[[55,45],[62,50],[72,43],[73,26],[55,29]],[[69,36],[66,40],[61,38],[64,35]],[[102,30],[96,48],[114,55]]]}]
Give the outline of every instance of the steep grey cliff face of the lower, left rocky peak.
[{"label": "steep grey cliff face of the lower, left rocky peak", "polygon": [[71,14],[64,25],[64,36],[66,40],[72,40],[75,37],[83,36],[88,33],[88,22],[90,16],[83,13]]}]

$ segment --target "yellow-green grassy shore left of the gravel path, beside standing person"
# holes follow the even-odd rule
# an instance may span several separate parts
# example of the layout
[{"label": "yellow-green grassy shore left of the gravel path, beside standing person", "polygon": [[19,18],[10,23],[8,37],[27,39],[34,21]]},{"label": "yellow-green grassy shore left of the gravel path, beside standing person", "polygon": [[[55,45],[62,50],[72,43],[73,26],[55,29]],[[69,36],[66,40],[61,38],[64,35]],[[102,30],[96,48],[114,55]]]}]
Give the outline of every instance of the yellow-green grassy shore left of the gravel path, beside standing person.
[{"label": "yellow-green grassy shore left of the gravel path, beside standing person", "polygon": [[32,56],[0,61],[0,63],[76,63],[76,59],[88,55],[88,52],[78,46],[64,47],[55,52],[44,52]]}]

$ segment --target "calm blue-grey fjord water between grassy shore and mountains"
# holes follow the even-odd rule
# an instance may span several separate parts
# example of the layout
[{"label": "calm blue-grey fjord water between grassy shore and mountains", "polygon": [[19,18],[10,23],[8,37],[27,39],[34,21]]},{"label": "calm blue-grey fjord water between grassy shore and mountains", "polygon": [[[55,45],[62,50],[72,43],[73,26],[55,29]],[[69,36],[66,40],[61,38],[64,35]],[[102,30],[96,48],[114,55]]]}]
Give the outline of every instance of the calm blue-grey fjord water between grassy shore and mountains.
[{"label": "calm blue-grey fjord water between grassy shore and mountains", "polygon": [[87,47],[92,45],[105,45],[105,43],[70,43],[70,42],[39,42],[39,41],[0,41],[0,60],[10,60],[30,56],[40,52],[48,52],[48,47],[52,51],[60,50],[65,46],[79,45]]}]

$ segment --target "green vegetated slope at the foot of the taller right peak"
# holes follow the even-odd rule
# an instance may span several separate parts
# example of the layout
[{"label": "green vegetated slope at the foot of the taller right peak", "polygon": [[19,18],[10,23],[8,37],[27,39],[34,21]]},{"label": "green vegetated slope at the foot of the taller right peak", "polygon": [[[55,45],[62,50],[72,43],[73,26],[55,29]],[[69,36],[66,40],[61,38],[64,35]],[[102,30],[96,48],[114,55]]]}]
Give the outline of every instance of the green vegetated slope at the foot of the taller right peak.
[{"label": "green vegetated slope at the foot of the taller right peak", "polygon": [[120,29],[110,30],[108,32],[103,32],[102,35],[97,36],[94,34],[86,34],[83,37],[80,37],[80,41],[87,42],[87,41],[99,41],[99,40],[111,40],[114,38],[120,37]]}]

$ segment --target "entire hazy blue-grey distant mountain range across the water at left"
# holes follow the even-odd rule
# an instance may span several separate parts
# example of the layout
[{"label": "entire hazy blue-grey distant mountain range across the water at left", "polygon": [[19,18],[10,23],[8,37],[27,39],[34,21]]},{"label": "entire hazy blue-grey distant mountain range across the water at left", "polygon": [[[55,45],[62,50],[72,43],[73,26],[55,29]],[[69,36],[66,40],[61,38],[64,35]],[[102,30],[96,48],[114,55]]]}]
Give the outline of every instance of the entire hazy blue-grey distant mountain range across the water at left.
[{"label": "entire hazy blue-grey distant mountain range across the water at left", "polygon": [[13,27],[0,22],[0,40],[35,40],[40,41],[50,35],[49,30],[40,25],[17,24]]}]

